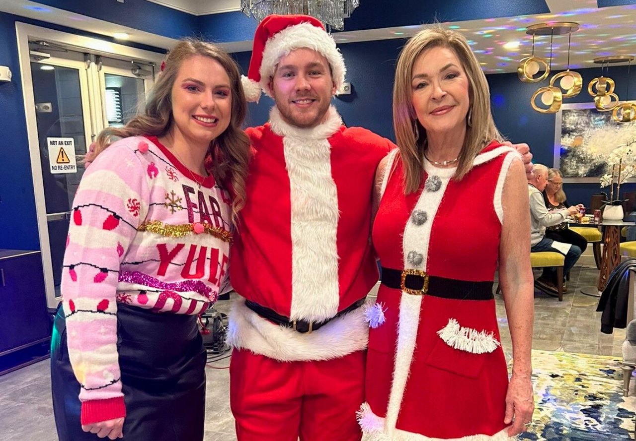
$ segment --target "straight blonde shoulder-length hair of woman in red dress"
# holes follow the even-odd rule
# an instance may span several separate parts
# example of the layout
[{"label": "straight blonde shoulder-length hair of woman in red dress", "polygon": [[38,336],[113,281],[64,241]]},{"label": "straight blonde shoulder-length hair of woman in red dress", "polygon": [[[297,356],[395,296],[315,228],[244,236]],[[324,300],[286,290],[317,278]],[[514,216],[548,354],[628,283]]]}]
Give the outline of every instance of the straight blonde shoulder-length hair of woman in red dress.
[{"label": "straight blonde shoulder-length hair of woman in red dress", "polygon": [[[404,166],[406,194],[415,192],[420,187],[424,170],[422,156],[426,145],[426,131],[417,120],[413,108],[413,66],[422,52],[436,47],[448,48],[455,53],[469,82],[468,115],[471,115],[471,124],[466,124],[466,138],[453,178],[462,179],[473,167],[474,158],[488,143],[492,140],[503,140],[490,114],[490,90],[486,76],[481,71],[480,63],[466,38],[459,32],[440,26],[420,30],[406,43],[397,58],[393,86],[393,126]],[[419,138],[415,136],[416,126]]]}]

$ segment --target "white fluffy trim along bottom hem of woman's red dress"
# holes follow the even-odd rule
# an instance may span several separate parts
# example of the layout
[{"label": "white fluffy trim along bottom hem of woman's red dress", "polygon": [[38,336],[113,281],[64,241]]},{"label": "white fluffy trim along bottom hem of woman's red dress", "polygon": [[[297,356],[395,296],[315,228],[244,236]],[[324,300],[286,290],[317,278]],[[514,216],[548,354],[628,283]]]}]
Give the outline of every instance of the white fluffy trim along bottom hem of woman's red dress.
[{"label": "white fluffy trim along bottom hem of woman's red dress", "polygon": [[356,416],[358,424],[366,435],[364,438],[366,441],[509,441],[518,439],[508,436],[508,428],[494,435],[469,435],[461,438],[431,438],[399,429],[395,430],[392,435],[388,435],[384,432],[386,420],[374,414],[368,403],[361,405]]}]

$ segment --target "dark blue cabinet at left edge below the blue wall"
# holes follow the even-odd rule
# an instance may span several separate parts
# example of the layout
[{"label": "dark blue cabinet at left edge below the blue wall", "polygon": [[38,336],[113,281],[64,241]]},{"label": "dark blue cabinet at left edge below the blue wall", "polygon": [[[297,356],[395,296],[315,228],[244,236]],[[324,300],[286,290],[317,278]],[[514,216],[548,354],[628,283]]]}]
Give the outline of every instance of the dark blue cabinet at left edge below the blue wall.
[{"label": "dark blue cabinet at left edge below the blue wall", "polygon": [[39,251],[0,250],[0,374],[46,358],[51,322]]}]

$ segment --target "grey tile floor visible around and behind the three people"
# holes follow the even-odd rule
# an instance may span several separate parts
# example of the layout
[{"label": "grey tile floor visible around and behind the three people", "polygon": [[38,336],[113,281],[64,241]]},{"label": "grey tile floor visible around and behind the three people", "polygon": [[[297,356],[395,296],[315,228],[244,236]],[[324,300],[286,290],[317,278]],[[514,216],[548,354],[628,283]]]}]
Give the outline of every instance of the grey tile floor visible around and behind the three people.
[{"label": "grey tile floor visible around and behind the three people", "polygon": [[[534,339],[532,347],[557,352],[621,355],[625,330],[602,334],[600,313],[595,312],[597,298],[585,296],[579,287],[594,285],[598,271],[574,268],[569,291],[563,301],[535,293]],[[502,345],[511,355],[508,322],[501,296],[495,296]],[[229,302],[219,302],[226,311]],[[229,372],[224,369],[229,359],[219,360],[207,369],[205,441],[235,439],[234,421],[230,412]],[[0,376],[0,438],[11,441],[54,441],[55,424],[51,404],[48,360]],[[99,438],[95,438],[96,440]]]}]

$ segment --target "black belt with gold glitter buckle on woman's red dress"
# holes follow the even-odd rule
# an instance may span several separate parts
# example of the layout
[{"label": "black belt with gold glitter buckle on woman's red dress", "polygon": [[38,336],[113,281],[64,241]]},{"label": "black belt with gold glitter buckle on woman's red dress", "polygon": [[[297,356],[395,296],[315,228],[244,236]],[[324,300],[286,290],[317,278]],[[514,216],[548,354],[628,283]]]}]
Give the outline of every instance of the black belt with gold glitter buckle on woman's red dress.
[{"label": "black belt with gold glitter buckle on woman's red dress", "polygon": [[445,299],[490,300],[493,282],[446,279],[428,275],[422,270],[394,270],[382,267],[382,284],[401,289],[414,296],[434,296]]}]

